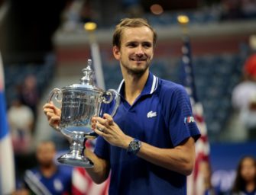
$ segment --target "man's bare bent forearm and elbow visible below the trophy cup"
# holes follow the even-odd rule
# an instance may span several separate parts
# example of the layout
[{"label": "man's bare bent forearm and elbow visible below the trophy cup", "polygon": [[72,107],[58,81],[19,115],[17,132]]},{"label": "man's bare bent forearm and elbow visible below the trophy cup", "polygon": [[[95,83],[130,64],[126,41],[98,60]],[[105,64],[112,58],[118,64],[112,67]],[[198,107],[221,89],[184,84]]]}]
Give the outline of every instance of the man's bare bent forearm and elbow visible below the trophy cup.
[{"label": "man's bare bent forearm and elbow visible below the trophy cup", "polygon": [[86,172],[92,177],[92,181],[96,184],[101,184],[109,177],[109,163],[102,158],[99,158],[89,149],[85,150],[85,155],[94,164],[93,168],[86,168]]}]

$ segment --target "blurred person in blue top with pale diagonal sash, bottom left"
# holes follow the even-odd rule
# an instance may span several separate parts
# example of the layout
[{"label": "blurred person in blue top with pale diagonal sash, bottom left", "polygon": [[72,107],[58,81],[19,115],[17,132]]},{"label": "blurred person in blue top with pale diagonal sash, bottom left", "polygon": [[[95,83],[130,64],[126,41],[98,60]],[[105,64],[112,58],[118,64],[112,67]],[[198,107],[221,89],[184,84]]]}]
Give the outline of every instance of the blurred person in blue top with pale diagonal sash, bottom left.
[{"label": "blurred person in blue top with pale diagonal sash, bottom left", "polygon": [[53,142],[40,142],[36,151],[38,167],[25,172],[24,184],[14,194],[72,194],[72,168],[56,165],[55,156]]}]

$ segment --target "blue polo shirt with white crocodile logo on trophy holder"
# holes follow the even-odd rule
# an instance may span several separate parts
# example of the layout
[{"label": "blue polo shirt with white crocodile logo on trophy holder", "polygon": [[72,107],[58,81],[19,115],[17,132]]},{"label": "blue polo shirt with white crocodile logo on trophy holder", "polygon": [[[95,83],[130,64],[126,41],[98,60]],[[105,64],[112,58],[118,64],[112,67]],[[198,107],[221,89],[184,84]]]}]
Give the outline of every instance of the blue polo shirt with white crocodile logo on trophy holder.
[{"label": "blue polo shirt with white crocodile logo on trophy holder", "polygon": [[[198,139],[190,98],[181,85],[149,74],[139,97],[130,105],[124,98],[125,82],[118,88],[121,103],[115,123],[142,142],[173,149],[184,139]],[[186,194],[186,176],[154,165],[125,149],[110,145],[99,136],[94,151],[111,166],[109,194]]]}]

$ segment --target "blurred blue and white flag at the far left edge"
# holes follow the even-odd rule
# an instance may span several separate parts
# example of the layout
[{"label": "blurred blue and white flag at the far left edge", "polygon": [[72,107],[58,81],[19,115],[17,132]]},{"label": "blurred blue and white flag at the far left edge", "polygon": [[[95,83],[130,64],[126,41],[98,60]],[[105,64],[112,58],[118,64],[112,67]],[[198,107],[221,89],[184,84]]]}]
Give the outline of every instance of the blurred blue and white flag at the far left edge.
[{"label": "blurred blue and white flag at the far left edge", "polygon": [[0,53],[0,194],[15,190],[15,166],[5,107],[5,79]]}]

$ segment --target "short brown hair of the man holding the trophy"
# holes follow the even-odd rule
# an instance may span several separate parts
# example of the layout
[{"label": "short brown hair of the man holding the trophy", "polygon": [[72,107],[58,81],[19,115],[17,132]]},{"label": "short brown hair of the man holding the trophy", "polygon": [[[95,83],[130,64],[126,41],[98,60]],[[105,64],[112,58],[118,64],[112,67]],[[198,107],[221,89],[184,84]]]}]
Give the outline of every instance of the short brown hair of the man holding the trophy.
[{"label": "short brown hair of the man holding the trophy", "polygon": [[115,31],[113,34],[112,44],[113,46],[121,46],[122,32],[127,27],[148,27],[153,32],[153,46],[157,43],[157,33],[147,20],[144,18],[124,18],[119,24],[115,26]]}]

